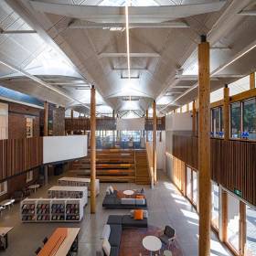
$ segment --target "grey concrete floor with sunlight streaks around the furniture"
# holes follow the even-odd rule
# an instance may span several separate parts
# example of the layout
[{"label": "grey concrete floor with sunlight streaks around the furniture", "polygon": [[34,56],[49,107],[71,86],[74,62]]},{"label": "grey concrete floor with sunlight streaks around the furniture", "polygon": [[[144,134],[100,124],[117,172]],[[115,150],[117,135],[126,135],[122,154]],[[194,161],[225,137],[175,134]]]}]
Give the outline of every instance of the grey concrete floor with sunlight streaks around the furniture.
[{"label": "grey concrete floor with sunlight streaks around the furniture", "polygon": [[[185,197],[182,197],[176,187],[159,173],[160,181],[158,187],[150,189],[145,187],[145,194],[148,200],[149,224],[164,229],[165,225],[171,225],[176,229],[177,241],[183,255],[197,256],[198,243],[198,216],[194,208]],[[48,187],[57,184],[56,178],[49,180]],[[32,256],[37,247],[42,246],[42,240],[50,236],[57,227],[80,227],[79,253],[81,256],[94,256],[96,250],[101,247],[100,236],[103,225],[110,214],[125,214],[129,210],[104,209],[101,207],[106,187],[109,184],[101,183],[101,194],[97,197],[97,213],[90,214],[90,205],[85,208],[84,219],[78,224],[59,223],[22,223],[19,217],[19,204],[10,210],[5,210],[1,217],[1,226],[13,226],[9,233],[9,247],[0,251],[3,256]],[[114,184],[119,189],[141,188],[134,184]],[[46,197],[48,187],[41,187],[31,197]],[[89,200],[90,201],[90,200]],[[139,255],[139,253],[138,253]],[[223,247],[216,236],[212,234],[211,255],[231,255]],[[64,255],[63,255],[64,256]]]}]

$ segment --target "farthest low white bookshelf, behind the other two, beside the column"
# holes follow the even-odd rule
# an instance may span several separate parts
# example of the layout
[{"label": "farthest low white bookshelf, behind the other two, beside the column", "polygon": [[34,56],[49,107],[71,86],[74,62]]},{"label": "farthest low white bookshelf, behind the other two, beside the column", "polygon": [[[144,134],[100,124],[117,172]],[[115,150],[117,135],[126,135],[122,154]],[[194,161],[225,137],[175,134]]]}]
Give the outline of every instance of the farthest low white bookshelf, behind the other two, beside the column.
[{"label": "farthest low white bookshelf, behind the other two, beside the column", "polygon": [[[59,186],[68,186],[68,187],[87,187],[88,188],[88,197],[91,196],[91,179],[90,178],[83,178],[83,177],[71,177],[71,176],[64,176],[59,178],[58,180]],[[96,195],[100,194],[100,180],[96,179],[95,182],[96,187]]]}]

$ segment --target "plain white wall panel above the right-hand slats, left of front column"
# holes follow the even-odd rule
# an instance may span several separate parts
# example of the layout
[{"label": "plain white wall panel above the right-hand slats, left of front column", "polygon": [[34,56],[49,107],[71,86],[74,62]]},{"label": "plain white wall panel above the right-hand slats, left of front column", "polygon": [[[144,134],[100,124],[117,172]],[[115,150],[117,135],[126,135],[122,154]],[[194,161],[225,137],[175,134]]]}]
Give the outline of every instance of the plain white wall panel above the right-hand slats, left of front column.
[{"label": "plain white wall panel above the right-hand slats, left of front column", "polygon": [[192,131],[192,114],[190,112],[166,115],[165,131]]}]

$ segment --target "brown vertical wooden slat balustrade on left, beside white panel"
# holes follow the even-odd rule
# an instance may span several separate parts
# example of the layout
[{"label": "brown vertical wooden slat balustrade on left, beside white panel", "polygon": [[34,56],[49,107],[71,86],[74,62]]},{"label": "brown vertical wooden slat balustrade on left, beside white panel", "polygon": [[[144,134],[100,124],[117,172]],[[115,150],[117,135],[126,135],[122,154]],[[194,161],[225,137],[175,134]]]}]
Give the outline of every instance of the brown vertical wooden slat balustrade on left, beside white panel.
[{"label": "brown vertical wooden slat balustrade on left, beside white panel", "polygon": [[0,140],[0,181],[42,163],[42,137]]}]

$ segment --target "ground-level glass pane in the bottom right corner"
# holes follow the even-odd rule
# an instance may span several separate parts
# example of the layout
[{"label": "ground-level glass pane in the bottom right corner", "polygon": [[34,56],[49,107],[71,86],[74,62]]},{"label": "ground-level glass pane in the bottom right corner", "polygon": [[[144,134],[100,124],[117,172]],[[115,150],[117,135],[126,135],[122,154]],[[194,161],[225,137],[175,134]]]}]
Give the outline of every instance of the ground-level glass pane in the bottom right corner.
[{"label": "ground-level glass pane in the bottom right corner", "polygon": [[246,253],[256,256],[256,210],[246,206]]}]

